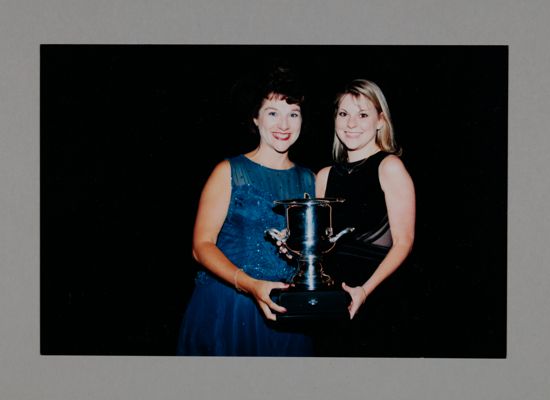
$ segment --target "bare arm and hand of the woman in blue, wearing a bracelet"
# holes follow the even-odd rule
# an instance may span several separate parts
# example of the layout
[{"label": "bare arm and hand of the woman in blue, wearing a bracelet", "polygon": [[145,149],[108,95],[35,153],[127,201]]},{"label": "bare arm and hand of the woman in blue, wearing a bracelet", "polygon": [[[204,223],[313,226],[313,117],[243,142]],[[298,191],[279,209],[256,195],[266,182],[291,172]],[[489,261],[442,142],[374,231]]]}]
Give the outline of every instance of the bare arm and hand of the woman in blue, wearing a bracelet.
[{"label": "bare arm and hand of the woman in blue, wearing a bracelet", "polygon": [[269,282],[250,277],[233,264],[216,242],[231,200],[231,167],[228,161],[219,163],[208,178],[199,200],[193,231],[193,257],[212,273],[239,289],[250,293],[268,319],[275,320],[271,310],[284,312],[269,294],[274,288],[286,288],[282,282]]}]

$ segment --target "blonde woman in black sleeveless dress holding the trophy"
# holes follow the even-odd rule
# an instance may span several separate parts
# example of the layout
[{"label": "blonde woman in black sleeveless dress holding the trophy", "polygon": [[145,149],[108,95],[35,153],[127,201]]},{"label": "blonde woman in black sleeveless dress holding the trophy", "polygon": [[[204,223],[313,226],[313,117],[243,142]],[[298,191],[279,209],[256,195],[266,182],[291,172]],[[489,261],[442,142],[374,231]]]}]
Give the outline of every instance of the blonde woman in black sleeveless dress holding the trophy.
[{"label": "blonde woman in black sleeveless dress holding the trophy", "polygon": [[369,298],[413,246],[414,184],[399,155],[384,94],[374,82],[352,81],[335,102],[335,164],[316,179],[317,197],[346,199],[334,212],[334,230],[355,228],[330,255],[337,264],[331,274],[351,296],[350,319],[368,320]]}]

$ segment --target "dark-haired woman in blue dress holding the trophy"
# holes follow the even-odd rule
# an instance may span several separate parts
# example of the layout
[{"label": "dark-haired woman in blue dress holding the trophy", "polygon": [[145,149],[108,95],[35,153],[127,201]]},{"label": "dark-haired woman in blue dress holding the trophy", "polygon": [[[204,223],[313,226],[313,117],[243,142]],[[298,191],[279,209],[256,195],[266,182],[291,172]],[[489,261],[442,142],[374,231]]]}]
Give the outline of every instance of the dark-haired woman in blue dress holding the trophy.
[{"label": "dark-haired woman in blue dress holding the trophy", "polygon": [[285,226],[273,201],[314,193],[315,176],[289,159],[300,136],[304,95],[288,69],[260,85],[252,113],[259,144],[221,161],[199,201],[193,256],[202,265],[185,312],[178,355],[307,356],[311,340],[273,324],[285,312],[270,293],[294,275],[265,230]]}]

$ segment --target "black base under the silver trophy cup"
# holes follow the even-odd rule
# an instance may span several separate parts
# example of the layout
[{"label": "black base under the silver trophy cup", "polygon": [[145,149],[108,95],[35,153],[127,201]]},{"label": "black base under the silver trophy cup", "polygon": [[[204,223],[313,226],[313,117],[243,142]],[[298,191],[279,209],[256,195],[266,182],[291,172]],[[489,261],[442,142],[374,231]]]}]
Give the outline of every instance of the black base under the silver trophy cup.
[{"label": "black base under the silver trophy cup", "polygon": [[277,321],[349,319],[351,297],[342,289],[273,290],[271,298],[287,310],[276,313]]}]

